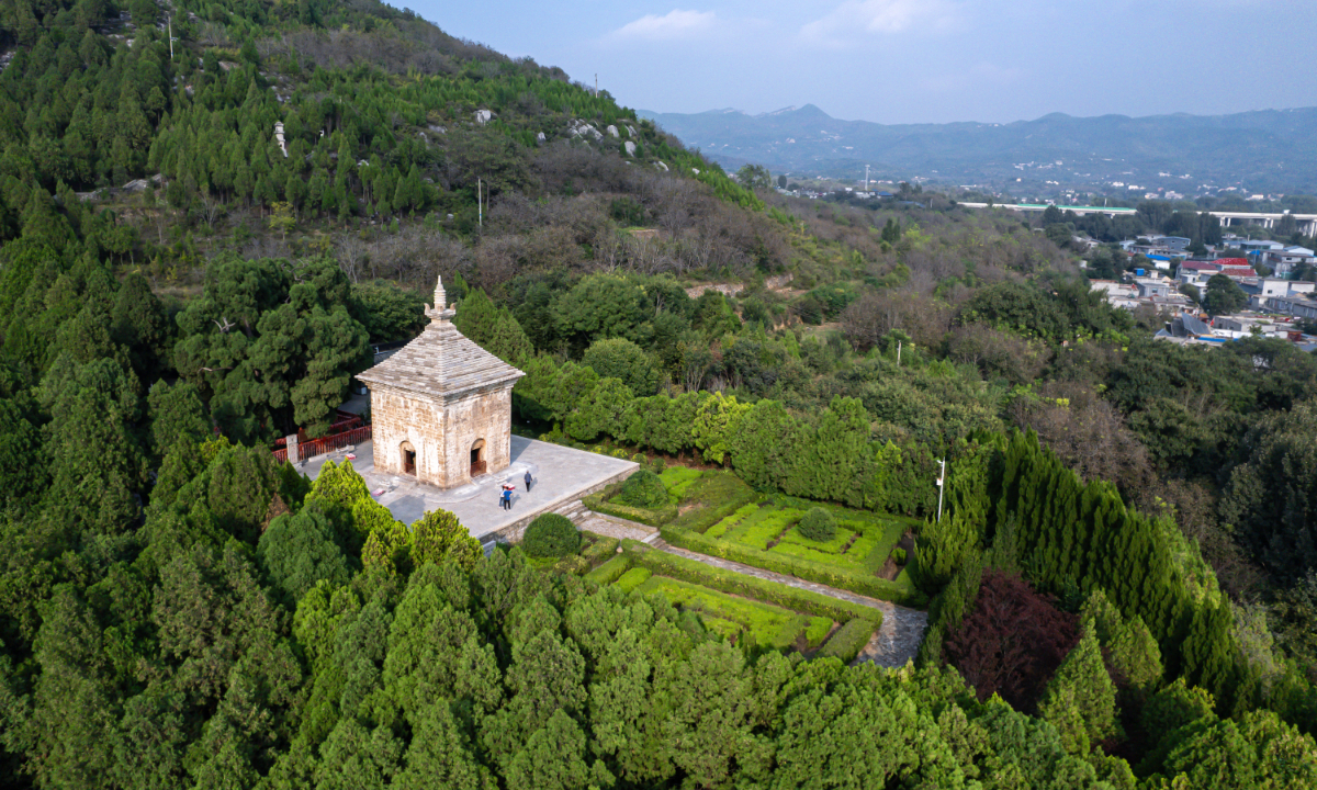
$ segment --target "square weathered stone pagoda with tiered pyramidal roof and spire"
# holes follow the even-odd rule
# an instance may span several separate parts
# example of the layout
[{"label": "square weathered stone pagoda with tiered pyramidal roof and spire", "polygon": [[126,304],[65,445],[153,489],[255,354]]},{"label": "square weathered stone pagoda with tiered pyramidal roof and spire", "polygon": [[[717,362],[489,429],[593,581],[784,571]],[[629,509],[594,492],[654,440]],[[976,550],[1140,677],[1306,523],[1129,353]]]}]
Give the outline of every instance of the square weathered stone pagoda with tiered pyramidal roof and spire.
[{"label": "square weathered stone pagoda with tiered pyramidal roof and spire", "polygon": [[468,340],[443,278],[429,325],[357,375],[370,387],[375,469],[453,488],[511,463],[512,384],[525,375]]}]

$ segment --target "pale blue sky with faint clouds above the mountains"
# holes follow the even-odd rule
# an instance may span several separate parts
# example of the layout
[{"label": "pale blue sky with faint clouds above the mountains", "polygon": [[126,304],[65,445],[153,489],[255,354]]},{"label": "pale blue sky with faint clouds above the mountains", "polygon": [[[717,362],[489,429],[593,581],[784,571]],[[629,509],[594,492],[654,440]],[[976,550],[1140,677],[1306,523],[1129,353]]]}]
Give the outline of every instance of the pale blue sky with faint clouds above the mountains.
[{"label": "pale blue sky with faint clouds above the mountains", "polygon": [[[396,3],[396,0],[395,0]],[[411,0],[652,112],[881,124],[1317,105],[1313,0]]]}]

